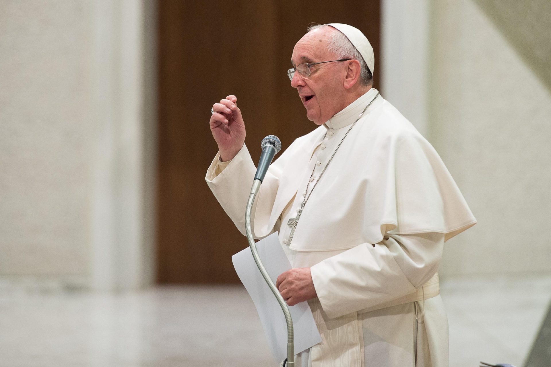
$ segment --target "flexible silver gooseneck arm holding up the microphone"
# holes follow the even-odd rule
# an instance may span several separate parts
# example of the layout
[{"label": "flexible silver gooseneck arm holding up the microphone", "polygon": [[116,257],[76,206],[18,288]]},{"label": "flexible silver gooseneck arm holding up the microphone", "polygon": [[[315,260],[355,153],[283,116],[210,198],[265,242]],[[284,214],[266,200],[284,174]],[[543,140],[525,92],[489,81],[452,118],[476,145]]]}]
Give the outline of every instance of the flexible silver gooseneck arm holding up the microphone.
[{"label": "flexible silver gooseneck arm holding up the microphone", "polygon": [[252,257],[255,259],[256,266],[258,266],[258,270],[260,270],[262,276],[264,277],[264,280],[266,281],[266,283],[268,283],[268,287],[270,287],[272,293],[276,296],[279,306],[282,308],[283,314],[285,315],[285,321],[287,321],[287,367],[295,367],[293,319],[291,319],[291,313],[289,312],[289,307],[287,306],[287,303],[283,299],[281,293],[279,293],[276,284],[274,284],[274,282],[268,275],[266,268],[262,264],[262,260],[260,260],[258,250],[256,249],[255,239],[252,235],[252,206],[255,203],[255,197],[256,194],[258,194],[258,190],[260,190],[261,184],[262,181],[259,179],[254,180],[252,183],[251,193],[249,194],[249,200],[247,200],[247,207],[245,209],[245,231],[247,232],[247,240],[249,241],[249,247],[251,248]]}]

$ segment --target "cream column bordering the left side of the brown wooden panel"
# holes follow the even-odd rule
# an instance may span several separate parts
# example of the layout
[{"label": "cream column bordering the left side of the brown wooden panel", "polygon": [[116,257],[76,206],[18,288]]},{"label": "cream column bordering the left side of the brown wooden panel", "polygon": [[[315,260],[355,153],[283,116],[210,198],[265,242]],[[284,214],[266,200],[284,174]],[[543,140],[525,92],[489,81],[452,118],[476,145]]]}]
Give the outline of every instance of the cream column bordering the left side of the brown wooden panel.
[{"label": "cream column bordering the left side of the brown wooden panel", "polygon": [[152,1],[95,1],[95,289],[134,289],[153,281],[153,11]]}]

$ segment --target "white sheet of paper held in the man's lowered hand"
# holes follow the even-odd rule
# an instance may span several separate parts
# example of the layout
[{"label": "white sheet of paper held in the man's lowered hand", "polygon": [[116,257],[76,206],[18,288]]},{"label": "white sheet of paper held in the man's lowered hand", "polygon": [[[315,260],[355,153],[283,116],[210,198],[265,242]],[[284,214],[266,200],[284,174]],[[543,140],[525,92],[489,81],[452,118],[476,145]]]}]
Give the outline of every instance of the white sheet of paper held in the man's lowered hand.
[{"label": "white sheet of paper held in the man's lowered hand", "polygon": [[[256,248],[260,259],[266,267],[272,281],[276,283],[277,277],[291,269],[291,264],[279,243],[278,233],[272,233],[268,237],[258,241]],[[277,362],[287,358],[287,323],[285,315],[279,306],[276,297],[264,281],[260,270],[252,257],[251,249],[240,251],[233,255],[235,271],[247,292],[255,303],[258,316],[264,328],[264,334],[272,354]],[[320,333],[317,331],[316,322],[307,302],[301,302],[289,307],[293,319],[295,354],[306,350],[321,342]]]}]

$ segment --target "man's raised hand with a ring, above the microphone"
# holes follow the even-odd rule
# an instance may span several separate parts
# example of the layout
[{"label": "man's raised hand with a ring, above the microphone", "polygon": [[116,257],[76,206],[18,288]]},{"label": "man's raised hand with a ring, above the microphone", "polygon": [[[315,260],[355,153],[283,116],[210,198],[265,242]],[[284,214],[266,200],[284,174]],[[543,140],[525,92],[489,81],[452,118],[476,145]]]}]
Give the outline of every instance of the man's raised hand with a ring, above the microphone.
[{"label": "man's raised hand with a ring, above the microphone", "polygon": [[245,123],[237,107],[237,97],[229,95],[214,103],[210,116],[210,132],[218,144],[220,158],[232,160],[245,143]]}]

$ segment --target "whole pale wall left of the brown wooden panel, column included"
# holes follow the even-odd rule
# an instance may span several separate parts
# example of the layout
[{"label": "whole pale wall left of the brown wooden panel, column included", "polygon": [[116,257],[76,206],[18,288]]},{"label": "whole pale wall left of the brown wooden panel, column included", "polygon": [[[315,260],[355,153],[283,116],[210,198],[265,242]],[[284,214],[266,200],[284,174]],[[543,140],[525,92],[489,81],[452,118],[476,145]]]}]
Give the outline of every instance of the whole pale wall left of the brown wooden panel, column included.
[{"label": "whole pale wall left of the brown wooden panel, column included", "polygon": [[146,282],[151,4],[0,2],[0,282]]}]

